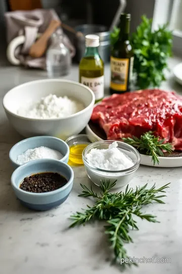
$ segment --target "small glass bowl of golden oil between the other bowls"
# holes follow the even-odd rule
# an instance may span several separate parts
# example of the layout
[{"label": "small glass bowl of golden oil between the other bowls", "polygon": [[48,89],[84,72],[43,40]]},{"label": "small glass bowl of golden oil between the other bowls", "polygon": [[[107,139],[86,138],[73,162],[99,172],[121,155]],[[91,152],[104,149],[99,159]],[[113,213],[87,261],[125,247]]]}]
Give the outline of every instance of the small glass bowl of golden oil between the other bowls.
[{"label": "small glass bowl of golden oil between the other bowls", "polygon": [[[95,141],[96,140],[92,140],[92,142],[95,142]],[[73,135],[70,138],[68,138],[65,142],[70,148],[68,164],[72,164],[72,163],[76,165],[83,164],[82,152],[85,147],[92,144],[92,142],[88,138],[88,135],[86,134]]]}]

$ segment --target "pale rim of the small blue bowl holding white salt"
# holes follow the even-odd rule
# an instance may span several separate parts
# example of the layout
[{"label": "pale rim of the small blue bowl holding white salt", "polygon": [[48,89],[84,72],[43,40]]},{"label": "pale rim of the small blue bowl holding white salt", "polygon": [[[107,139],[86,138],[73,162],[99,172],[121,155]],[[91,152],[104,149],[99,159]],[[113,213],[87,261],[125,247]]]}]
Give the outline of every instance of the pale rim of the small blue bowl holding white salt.
[{"label": "pale rim of the small blue bowl holding white salt", "polygon": [[57,137],[53,137],[53,136],[46,136],[46,135],[41,135],[41,136],[34,136],[34,137],[30,137],[30,138],[26,138],[26,139],[23,139],[21,141],[19,141],[18,143],[16,143],[11,149],[10,149],[10,152],[9,152],[9,158],[11,160],[12,163],[14,163],[15,165],[18,165],[18,166],[21,166],[19,163],[17,163],[16,161],[13,160],[13,151],[18,147],[18,146],[21,146],[21,144],[23,143],[26,143],[28,141],[31,141],[31,140],[36,140],[36,139],[43,139],[43,138],[47,138],[49,140],[58,140],[60,141],[63,145],[65,145],[65,147],[67,148],[67,152],[66,152],[66,155],[61,158],[59,161],[64,161],[66,158],[69,158],[69,146],[68,144],[63,141],[62,139],[59,139]]}]

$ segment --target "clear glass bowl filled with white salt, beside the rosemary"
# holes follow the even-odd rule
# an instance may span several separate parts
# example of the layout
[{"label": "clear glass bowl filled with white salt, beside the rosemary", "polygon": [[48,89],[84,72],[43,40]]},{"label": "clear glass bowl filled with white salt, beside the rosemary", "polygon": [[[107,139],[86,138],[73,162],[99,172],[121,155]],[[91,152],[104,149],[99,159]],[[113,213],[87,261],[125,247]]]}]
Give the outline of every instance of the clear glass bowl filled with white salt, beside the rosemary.
[{"label": "clear glass bowl filled with white salt, beside the rosemary", "polygon": [[127,185],[141,162],[138,150],[119,141],[90,144],[83,150],[82,159],[86,173],[94,184],[100,186],[101,181],[117,180],[113,189]]}]

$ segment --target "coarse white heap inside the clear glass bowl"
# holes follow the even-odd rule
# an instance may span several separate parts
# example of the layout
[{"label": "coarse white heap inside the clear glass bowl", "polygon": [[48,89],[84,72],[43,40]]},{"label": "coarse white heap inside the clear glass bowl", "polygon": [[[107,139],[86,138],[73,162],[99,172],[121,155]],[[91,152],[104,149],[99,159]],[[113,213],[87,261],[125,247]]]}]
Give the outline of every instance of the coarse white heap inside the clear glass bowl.
[{"label": "coarse white heap inside the clear glass bowl", "polygon": [[86,159],[89,164],[105,170],[123,170],[133,166],[133,161],[117,146],[117,142],[113,142],[108,149],[91,149]]}]

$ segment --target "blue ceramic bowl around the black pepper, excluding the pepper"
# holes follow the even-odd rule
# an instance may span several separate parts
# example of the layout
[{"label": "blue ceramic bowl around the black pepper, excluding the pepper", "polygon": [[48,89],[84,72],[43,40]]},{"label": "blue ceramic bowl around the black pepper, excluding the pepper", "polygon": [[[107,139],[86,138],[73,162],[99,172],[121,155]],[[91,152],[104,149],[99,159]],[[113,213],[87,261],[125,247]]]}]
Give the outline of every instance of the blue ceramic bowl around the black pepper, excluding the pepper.
[{"label": "blue ceramic bowl around the black pepper, excluding the pepper", "polygon": [[[57,190],[44,193],[27,192],[19,188],[25,177],[42,172],[59,173],[68,180],[68,183]],[[11,177],[11,185],[15,195],[25,207],[45,211],[57,207],[67,199],[73,186],[73,178],[73,170],[68,164],[54,159],[38,159],[15,169]]]}]

